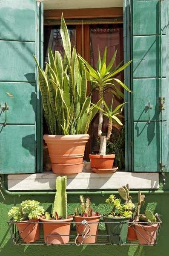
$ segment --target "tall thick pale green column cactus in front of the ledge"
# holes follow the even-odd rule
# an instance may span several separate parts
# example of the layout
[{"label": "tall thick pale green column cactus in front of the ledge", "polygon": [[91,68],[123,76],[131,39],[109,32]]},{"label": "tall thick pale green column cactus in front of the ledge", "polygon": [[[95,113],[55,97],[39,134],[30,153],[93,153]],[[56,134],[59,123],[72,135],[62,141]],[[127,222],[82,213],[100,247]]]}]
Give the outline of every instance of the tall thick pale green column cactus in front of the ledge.
[{"label": "tall thick pale green column cactus in front of the ledge", "polygon": [[56,178],[56,195],[54,198],[54,207],[52,217],[55,218],[55,212],[59,217],[67,218],[67,176]]}]

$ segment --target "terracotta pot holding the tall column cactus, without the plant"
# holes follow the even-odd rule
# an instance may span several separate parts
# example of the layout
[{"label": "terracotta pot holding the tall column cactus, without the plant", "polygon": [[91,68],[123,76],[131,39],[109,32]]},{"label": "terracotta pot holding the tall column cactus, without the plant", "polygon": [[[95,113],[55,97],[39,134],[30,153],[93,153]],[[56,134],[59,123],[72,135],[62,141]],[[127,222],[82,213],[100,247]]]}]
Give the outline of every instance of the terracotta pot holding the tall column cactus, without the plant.
[{"label": "terracotta pot holding the tall column cactus, without the plant", "polygon": [[[62,222],[72,222],[73,218],[68,218],[64,220],[46,220],[40,218],[40,221],[43,222],[43,233],[45,243],[47,244],[67,244],[69,242],[70,226],[71,223],[62,223]],[[52,222],[52,223],[48,223]],[[59,236],[50,236],[50,235],[59,235]],[[65,236],[67,235],[67,236]]]}]

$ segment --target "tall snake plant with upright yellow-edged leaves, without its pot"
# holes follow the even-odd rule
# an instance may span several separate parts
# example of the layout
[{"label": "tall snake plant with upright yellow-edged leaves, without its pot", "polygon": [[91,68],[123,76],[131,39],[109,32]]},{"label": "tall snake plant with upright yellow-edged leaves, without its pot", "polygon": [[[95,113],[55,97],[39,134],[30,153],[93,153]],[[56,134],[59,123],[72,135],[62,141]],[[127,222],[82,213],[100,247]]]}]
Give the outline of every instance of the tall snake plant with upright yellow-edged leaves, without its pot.
[{"label": "tall snake plant with upright yellow-edged leaves, without its pot", "polygon": [[[79,64],[75,47],[71,48],[63,14],[60,34],[65,51],[63,59],[60,52],[53,55],[49,48],[49,64],[46,63],[42,71],[34,56],[39,70],[43,113],[49,134],[86,134],[98,109],[91,105],[91,97],[87,95],[86,69],[84,64]],[[101,102],[102,99],[97,105]]]}]

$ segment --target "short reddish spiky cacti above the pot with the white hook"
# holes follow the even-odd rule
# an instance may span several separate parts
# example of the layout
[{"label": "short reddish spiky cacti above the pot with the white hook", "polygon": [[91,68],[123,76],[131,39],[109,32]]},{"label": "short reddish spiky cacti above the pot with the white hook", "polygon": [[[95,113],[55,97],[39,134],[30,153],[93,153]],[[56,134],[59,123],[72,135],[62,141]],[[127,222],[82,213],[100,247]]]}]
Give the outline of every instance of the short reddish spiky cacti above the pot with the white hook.
[{"label": "short reddish spiky cacti above the pot with the white hook", "polygon": [[93,217],[98,216],[99,212],[93,212],[92,208],[90,208],[90,198],[86,198],[86,202],[83,195],[80,195],[80,202],[81,202],[81,213],[79,213],[79,208],[76,207],[75,215],[76,216],[83,216],[83,217]]}]

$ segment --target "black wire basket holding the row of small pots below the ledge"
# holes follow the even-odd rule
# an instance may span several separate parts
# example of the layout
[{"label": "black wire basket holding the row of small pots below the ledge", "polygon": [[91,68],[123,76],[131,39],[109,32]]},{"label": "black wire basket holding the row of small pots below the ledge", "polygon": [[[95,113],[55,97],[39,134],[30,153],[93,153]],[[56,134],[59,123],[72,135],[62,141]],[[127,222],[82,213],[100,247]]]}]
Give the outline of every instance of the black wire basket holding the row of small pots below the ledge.
[{"label": "black wire basket holding the row of small pots below the ledge", "polygon": [[[70,234],[53,234],[53,235],[47,235],[46,236],[46,242],[45,242],[45,239],[44,239],[44,236],[43,236],[43,224],[44,222],[41,222],[41,221],[29,221],[29,222],[24,222],[22,221],[22,223],[26,223],[26,227],[23,229],[26,230],[26,228],[29,227],[29,225],[32,225],[31,229],[30,229],[30,232],[25,236],[23,237],[22,236],[22,232],[19,233],[19,230],[17,228],[17,224],[20,224],[21,222],[14,222],[12,219],[10,221],[7,221],[8,223],[8,227],[9,227],[9,231],[10,231],[10,234],[11,234],[11,238],[12,238],[12,241],[13,241],[13,244],[14,245],[45,245],[45,246],[49,246],[49,245],[55,245],[55,244],[50,244],[49,243],[49,238],[51,237],[55,237],[55,238],[58,238],[58,237],[63,237],[63,236],[69,236],[69,242],[66,243],[66,244],[57,244],[57,245],[65,245],[65,246],[69,246],[69,245],[76,245],[76,246],[79,246],[79,245],[120,245],[120,246],[138,246],[138,245],[141,245],[141,246],[155,246],[158,242],[158,237],[159,237],[159,233],[160,233],[160,228],[161,228],[161,224],[162,224],[162,221],[160,220],[160,218],[158,216],[157,217],[157,222],[151,222],[151,223],[147,223],[147,222],[137,222],[137,223],[134,223],[134,222],[129,222],[129,226],[133,228],[133,230],[135,230],[137,236],[141,236],[143,238],[143,240],[146,241],[146,244],[140,244],[139,241],[130,241],[130,240],[126,240],[126,243],[123,243],[122,240],[121,240],[121,237],[120,235],[117,235],[117,234],[107,234],[106,233],[106,230],[105,230],[105,224],[112,224],[113,222],[75,222],[75,221],[72,221],[72,222],[57,222],[57,223],[65,223],[65,224],[71,224],[71,231],[70,231]],[[51,224],[53,223],[52,221],[49,221],[47,223],[45,223],[45,225],[48,225],[48,224]],[[95,224],[98,224],[99,225],[99,231],[98,231],[98,234],[97,235],[88,235],[89,231],[90,231],[90,224],[92,223],[95,223]],[[115,222],[115,224],[117,223],[122,223],[122,222]],[[27,236],[29,236],[29,234],[34,230],[35,228],[35,225],[38,224],[40,225],[40,238],[37,240],[37,241],[34,241],[34,242],[31,242],[31,243],[26,243],[24,240],[27,238]],[[78,230],[78,227],[80,227],[80,225],[85,225],[85,228],[84,228],[84,232],[83,233],[80,233],[79,230],[78,232],[76,232],[76,229],[75,229],[75,226],[76,224],[79,224],[77,225],[77,230]],[[135,224],[139,225],[141,227],[141,230],[143,229],[146,234],[151,238],[152,242],[149,242],[147,240],[147,237],[144,237],[142,236],[142,234],[140,234],[140,232],[138,230],[136,230],[135,228]],[[157,230],[156,230],[156,234],[155,236],[153,236],[152,233],[149,233],[144,227],[145,225],[150,225],[150,224],[157,224]],[[87,229],[88,228],[88,229]],[[104,230],[103,230],[104,229]],[[79,233],[77,235],[77,233]],[[22,237],[21,237],[22,236]],[[82,243],[77,243],[77,238],[78,236],[81,236],[82,237]],[[88,243],[85,243],[85,239],[89,238],[89,236],[95,236],[97,237],[97,241],[93,244],[88,244]],[[118,244],[112,244],[110,241],[111,241],[111,237],[113,236],[116,236],[118,237],[119,239],[119,243]]]}]

